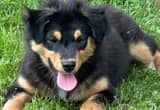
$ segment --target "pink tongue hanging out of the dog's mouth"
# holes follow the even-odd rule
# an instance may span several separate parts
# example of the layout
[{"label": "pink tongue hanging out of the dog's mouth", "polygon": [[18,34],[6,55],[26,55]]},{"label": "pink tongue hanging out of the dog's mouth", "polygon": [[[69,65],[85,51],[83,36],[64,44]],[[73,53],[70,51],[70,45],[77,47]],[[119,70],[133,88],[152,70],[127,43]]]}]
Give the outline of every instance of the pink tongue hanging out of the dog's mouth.
[{"label": "pink tongue hanging out of the dog's mouth", "polygon": [[65,91],[71,91],[77,86],[77,79],[74,74],[64,75],[58,72],[57,85]]}]

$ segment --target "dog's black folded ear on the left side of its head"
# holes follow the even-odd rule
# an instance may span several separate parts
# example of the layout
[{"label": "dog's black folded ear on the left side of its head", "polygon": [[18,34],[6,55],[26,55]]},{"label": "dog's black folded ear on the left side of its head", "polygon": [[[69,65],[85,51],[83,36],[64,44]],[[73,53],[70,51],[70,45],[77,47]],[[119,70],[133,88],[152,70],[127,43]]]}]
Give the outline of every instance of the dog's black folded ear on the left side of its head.
[{"label": "dog's black folded ear on the left side of its head", "polygon": [[50,16],[54,10],[43,9],[33,10],[27,7],[23,7],[22,19],[27,31],[26,39],[33,39],[37,43],[42,42],[44,36],[44,27],[49,22]]}]

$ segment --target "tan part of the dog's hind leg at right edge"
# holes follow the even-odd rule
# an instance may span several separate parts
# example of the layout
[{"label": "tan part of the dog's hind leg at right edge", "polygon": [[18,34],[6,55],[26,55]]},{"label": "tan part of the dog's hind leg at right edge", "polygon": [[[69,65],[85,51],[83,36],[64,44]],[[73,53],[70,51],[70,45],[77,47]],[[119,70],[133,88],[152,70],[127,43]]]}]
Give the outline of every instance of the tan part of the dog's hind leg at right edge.
[{"label": "tan part of the dog's hind leg at right edge", "polygon": [[143,63],[149,69],[160,69],[160,53],[157,49],[152,52],[152,47],[147,45],[143,40],[129,44],[131,57]]}]

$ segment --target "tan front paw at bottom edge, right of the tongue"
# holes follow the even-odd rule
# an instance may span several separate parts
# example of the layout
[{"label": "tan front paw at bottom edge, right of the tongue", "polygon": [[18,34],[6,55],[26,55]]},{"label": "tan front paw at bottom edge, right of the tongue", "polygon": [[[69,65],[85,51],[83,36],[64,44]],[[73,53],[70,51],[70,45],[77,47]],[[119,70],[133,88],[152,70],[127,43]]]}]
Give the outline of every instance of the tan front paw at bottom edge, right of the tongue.
[{"label": "tan front paw at bottom edge, right of the tongue", "polygon": [[105,110],[102,103],[97,103],[96,98],[98,95],[91,96],[81,106],[80,110]]}]

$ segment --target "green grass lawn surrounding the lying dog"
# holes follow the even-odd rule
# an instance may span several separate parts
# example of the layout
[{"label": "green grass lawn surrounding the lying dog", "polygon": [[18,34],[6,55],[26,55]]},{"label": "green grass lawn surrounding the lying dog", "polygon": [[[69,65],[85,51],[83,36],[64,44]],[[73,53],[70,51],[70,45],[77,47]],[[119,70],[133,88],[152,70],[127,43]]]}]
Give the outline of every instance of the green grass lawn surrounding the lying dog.
[{"label": "green grass lawn surrounding the lying dog", "polygon": [[[38,0],[37,0],[38,1]],[[0,1],[0,109],[6,88],[16,80],[24,54],[22,4],[35,8],[36,0]],[[160,42],[160,10],[154,0],[90,0],[92,5],[110,3],[124,10],[147,33]],[[118,87],[116,100],[107,110],[160,110],[160,72],[133,66]],[[74,104],[36,96],[25,110],[73,110]]]}]

